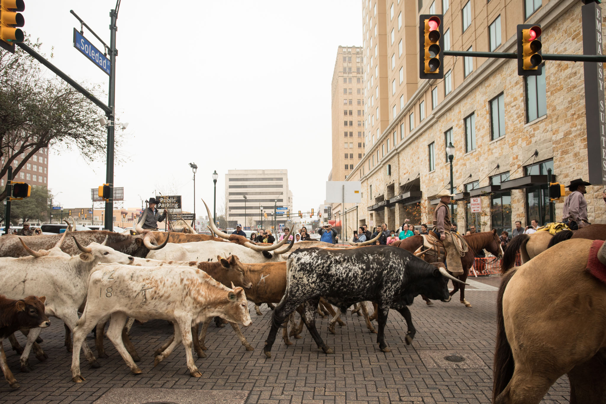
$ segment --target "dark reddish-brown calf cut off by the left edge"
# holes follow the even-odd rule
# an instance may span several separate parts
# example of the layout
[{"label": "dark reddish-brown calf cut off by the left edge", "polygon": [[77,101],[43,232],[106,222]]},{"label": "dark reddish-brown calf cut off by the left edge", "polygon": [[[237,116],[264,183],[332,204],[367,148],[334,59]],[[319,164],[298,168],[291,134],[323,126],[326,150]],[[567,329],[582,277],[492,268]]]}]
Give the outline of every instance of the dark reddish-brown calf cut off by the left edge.
[{"label": "dark reddish-brown calf cut off by the left edge", "polygon": [[50,321],[44,314],[45,296],[27,296],[24,299],[13,300],[0,295],[0,368],[4,378],[12,388],[18,388],[19,383],[8,368],[2,340],[12,335],[18,329],[47,327]]}]

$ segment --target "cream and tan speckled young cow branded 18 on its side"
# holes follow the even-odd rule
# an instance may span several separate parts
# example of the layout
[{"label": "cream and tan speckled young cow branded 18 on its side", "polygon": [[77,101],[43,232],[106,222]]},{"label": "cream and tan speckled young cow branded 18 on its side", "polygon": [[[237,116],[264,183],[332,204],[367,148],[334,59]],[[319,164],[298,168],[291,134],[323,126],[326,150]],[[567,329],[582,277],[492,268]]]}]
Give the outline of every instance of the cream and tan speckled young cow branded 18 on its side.
[{"label": "cream and tan speckled young cow branded 18 on its side", "polygon": [[244,289],[227,288],[198,268],[99,265],[90,276],[86,307],[74,330],[73,382],[84,380],[80,373],[80,348],[85,337],[99,320],[109,315],[107,336],[135,374],[141,373],[141,369],[122,343],[122,329],[128,317],[172,321],[175,339],[156,356],[154,365],[162,362],[182,341],[187,368],[193,377],[202,375],[191,355],[192,326],[214,316],[244,326],[251,324]]}]

